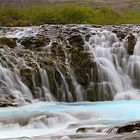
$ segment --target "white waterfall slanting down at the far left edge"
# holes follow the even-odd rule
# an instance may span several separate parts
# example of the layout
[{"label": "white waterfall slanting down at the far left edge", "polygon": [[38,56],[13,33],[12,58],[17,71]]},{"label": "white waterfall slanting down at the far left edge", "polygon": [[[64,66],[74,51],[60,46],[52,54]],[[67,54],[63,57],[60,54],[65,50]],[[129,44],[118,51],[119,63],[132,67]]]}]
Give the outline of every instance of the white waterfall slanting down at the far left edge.
[{"label": "white waterfall slanting down at the far left edge", "polygon": [[0,65],[0,96],[1,100],[17,99],[20,101],[32,100],[28,87],[21,81],[16,71],[3,68]]}]

